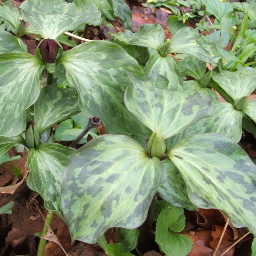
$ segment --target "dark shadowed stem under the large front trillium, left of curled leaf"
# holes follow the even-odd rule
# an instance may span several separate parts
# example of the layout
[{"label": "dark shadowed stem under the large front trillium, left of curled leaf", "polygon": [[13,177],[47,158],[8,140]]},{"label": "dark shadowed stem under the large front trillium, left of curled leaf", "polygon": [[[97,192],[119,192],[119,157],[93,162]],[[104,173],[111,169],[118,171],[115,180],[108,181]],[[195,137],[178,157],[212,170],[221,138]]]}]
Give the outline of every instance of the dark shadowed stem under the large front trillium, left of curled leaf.
[{"label": "dark shadowed stem under the large front trillium, left of curled leaf", "polygon": [[154,211],[155,211],[155,199],[156,195],[154,195],[152,202],[149,207],[148,216],[145,222],[140,226],[140,235],[139,241],[137,244],[137,249],[140,251],[141,254],[144,254],[147,251],[151,250],[152,246],[152,225],[153,225],[153,218],[154,218]]}]

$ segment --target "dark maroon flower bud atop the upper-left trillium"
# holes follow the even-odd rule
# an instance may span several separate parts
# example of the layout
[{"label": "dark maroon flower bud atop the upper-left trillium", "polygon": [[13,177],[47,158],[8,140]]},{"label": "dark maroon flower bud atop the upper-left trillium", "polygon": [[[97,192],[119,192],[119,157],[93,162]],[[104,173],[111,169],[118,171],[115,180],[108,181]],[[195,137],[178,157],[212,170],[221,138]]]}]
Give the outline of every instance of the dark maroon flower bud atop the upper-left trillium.
[{"label": "dark maroon flower bud atop the upper-left trillium", "polygon": [[56,61],[59,46],[54,39],[44,39],[39,49],[45,62],[54,63]]}]

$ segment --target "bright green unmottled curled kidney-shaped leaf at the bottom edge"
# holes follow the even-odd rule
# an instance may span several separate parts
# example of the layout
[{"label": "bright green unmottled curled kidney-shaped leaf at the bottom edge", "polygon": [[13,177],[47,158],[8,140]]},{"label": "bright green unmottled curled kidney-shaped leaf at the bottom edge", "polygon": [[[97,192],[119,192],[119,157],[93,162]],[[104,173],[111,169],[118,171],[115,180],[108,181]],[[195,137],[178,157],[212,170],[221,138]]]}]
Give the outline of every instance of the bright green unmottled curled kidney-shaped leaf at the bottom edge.
[{"label": "bright green unmottled curled kidney-shaped leaf at the bottom edge", "polygon": [[184,227],[183,208],[169,206],[162,209],[156,222],[155,241],[168,256],[185,256],[191,251],[191,239],[186,235],[174,233]]}]

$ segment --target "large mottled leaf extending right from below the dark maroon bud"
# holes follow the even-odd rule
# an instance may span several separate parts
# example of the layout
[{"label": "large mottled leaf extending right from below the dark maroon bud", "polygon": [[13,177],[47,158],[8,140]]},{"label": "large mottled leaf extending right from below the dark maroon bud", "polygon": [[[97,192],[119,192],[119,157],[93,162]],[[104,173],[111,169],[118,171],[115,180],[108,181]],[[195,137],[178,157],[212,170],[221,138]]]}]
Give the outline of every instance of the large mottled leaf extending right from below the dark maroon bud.
[{"label": "large mottled leaf extending right from below the dark maroon bud", "polygon": [[144,76],[125,50],[111,42],[93,41],[71,49],[61,61],[86,116],[99,116],[107,133],[150,135],[124,104],[124,91],[130,84],[127,72],[140,79]]}]

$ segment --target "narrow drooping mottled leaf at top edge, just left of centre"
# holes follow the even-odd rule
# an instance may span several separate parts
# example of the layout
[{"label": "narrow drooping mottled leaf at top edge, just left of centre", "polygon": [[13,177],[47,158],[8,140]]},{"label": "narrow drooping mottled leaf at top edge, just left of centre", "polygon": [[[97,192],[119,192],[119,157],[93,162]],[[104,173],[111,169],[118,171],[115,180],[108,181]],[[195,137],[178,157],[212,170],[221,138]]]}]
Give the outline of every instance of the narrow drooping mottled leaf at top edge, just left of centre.
[{"label": "narrow drooping mottled leaf at top edge, just left of centre", "polygon": [[115,16],[119,17],[125,29],[132,29],[131,11],[125,0],[112,0]]}]

